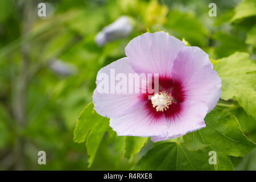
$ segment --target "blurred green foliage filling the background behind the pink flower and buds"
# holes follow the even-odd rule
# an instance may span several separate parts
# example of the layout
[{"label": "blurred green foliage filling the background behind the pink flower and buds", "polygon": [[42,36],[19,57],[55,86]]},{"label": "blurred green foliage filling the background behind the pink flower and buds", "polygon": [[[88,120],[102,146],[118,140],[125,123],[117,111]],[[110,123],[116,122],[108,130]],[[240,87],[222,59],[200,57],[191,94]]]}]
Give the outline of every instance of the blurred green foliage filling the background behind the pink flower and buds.
[{"label": "blurred green foliage filling the background behind the pink flower and buds", "polygon": [[[255,60],[253,0],[49,0],[43,1],[47,9],[51,7],[46,18],[37,15],[39,2],[0,1],[0,169],[127,170],[137,163],[154,146],[150,140],[139,154],[138,148],[132,148],[125,154],[126,159],[124,140],[134,141],[117,137],[108,125],[102,139],[95,141],[90,135],[98,136],[99,126],[94,123],[94,130],[85,136],[86,144],[75,143],[76,138],[73,142],[73,130],[79,113],[92,101],[99,69],[124,57],[127,43],[147,28],[150,32],[166,30],[180,40],[185,38],[214,60],[237,51],[247,52]],[[208,15],[210,2],[217,5],[216,17]],[[98,47],[94,42],[96,34],[122,15],[133,19],[130,36]],[[56,72],[51,67],[54,60],[72,64],[76,71]],[[225,67],[225,63],[221,64]],[[255,82],[250,84],[255,93]],[[247,137],[256,142],[256,121],[246,114],[255,108],[248,111],[244,106],[243,110],[235,100],[232,107],[226,108],[225,104],[222,106],[236,115]],[[85,138],[79,142],[85,142]],[[97,143],[96,148],[86,147],[92,143]],[[142,147],[144,140],[135,145]],[[184,148],[162,145],[163,155],[164,150]],[[46,151],[47,165],[38,164],[41,150]],[[232,158],[234,168],[241,170],[256,170],[255,160],[255,150],[245,158]],[[141,160],[135,169],[144,165]]]}]

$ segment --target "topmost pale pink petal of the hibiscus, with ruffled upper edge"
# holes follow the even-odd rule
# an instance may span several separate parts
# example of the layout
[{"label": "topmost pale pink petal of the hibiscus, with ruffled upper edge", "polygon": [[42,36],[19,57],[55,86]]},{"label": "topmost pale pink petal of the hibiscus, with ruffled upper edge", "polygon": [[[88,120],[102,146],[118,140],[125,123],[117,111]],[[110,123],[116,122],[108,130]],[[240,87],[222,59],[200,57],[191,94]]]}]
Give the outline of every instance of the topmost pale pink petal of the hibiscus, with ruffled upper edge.
[{"label": "topmost pale pink petal of the hibiscus, with ruffled upper edge", "polygon": [[179,39],[166,32],[143,34],[129,42],[125,53],[131,67],[137,73],[159,73],[159,76],[171,76],[177,52],[185,47]]}]

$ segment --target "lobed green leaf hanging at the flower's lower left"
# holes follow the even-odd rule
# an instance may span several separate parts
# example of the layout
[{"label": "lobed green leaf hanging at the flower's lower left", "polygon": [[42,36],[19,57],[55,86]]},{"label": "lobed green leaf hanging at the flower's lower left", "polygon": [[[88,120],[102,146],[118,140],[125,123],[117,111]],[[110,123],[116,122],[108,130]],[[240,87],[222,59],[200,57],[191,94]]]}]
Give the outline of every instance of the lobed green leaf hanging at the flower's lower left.
[{"label": "lobed green leaf hanging at the flower's lower left", "polygon": [[81,112],[74,130],[74,141],[82,143],[86,141],[86,149],[89,156],[88,167],[92,166],[98,146],[106,131],[109,130],[109,119],[97,114],[90,102]]}]

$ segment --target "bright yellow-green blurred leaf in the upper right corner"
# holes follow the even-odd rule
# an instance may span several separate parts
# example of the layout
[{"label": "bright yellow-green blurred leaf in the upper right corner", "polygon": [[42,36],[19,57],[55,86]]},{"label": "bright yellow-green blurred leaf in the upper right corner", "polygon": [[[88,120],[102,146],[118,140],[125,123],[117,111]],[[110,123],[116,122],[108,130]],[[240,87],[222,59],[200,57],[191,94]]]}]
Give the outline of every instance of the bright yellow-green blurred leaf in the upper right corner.
[{"label": "bright yellow-green blurred leaf in the upper right corner", "polygon": [[230,20],[234,22],[234,20],[247,18],[249,16],[256,15],[256,1],[255,0],[243,0],[239,3],[235,8],[235,14],[233,18]]}]

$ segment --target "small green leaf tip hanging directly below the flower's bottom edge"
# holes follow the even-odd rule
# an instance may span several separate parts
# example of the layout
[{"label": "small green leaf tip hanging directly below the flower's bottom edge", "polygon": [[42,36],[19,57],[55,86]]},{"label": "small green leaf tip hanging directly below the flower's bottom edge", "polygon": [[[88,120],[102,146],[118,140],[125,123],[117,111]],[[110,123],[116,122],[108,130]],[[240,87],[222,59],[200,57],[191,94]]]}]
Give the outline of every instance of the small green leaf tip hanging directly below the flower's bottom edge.
[{"label": "small green leaf tip hanging directly below the flower's bottom edge", "polygon": [[125,150],[123,151],[124,158],[131,158],[146,144],[147,137],[125,137]]}]

